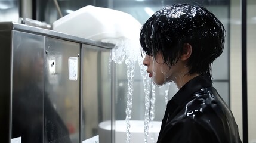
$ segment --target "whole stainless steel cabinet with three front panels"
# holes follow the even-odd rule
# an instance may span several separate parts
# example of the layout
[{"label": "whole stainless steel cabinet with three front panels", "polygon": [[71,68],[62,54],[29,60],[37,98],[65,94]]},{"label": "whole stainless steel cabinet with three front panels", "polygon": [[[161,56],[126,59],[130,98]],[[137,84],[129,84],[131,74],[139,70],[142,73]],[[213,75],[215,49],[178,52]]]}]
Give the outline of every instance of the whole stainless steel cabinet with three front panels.
[{"label": "whole stainless steel cabinet with three front panels", "polygon": [[77,143],[113,120],[113,45],[16,23],[0,43],[1,142]]}]

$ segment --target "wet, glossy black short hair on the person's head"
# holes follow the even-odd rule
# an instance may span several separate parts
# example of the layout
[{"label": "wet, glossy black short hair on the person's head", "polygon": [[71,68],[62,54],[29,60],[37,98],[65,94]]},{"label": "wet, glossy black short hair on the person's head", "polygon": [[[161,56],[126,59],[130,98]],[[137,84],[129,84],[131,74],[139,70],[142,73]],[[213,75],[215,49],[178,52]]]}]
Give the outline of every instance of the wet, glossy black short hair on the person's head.
[{"label": "wet, glossy black short hair on the person's head", "polygon": [[192,4],[167,6],[141,27],[141,53],[155,58],[160,52],[170,68],[177,63],[185,43],[192,46],[189,73],[211,75],[212,62],[221,55],[226,31],[205,7]]}]

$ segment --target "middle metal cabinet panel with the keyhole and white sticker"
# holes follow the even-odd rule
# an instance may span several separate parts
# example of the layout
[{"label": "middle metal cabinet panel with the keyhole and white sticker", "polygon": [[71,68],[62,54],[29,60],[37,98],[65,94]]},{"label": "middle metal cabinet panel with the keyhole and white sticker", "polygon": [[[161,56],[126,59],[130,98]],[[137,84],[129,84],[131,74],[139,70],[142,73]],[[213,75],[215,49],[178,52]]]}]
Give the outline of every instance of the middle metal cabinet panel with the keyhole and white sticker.
[{"label": "middle metal cabinet panel with the keyhole and white sticker", "polygon": [[45,38],[45,142],[79,142],[80,44]]}]

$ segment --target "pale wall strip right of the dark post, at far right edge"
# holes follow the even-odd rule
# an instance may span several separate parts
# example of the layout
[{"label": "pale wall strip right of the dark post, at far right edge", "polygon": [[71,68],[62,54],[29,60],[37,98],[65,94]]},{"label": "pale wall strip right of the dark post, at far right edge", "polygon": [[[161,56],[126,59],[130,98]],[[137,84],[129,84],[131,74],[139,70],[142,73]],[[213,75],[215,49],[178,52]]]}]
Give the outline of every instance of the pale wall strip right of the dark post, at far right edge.
[{"label": "pale wall strip right of the dark post, at far right edge", "polygon": [[256,1],[248,0],[247,7],[247,66],[248,66],[248,137],[256,142]]}]

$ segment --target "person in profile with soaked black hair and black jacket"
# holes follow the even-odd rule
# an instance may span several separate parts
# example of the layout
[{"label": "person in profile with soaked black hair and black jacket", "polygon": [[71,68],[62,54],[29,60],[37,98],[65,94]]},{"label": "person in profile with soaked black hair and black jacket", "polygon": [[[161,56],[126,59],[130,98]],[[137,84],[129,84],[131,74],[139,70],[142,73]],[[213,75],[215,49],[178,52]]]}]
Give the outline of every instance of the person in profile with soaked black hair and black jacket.
[{"label": "person in profile with soaked black hair and black jacket", "polygon": [[143,64],[156,85],[174,82],[158,143],[241,142],[232,112],[212,87],[212,62],[226,32],[205,7],[179,4],[156,11],[141,28]]}]

